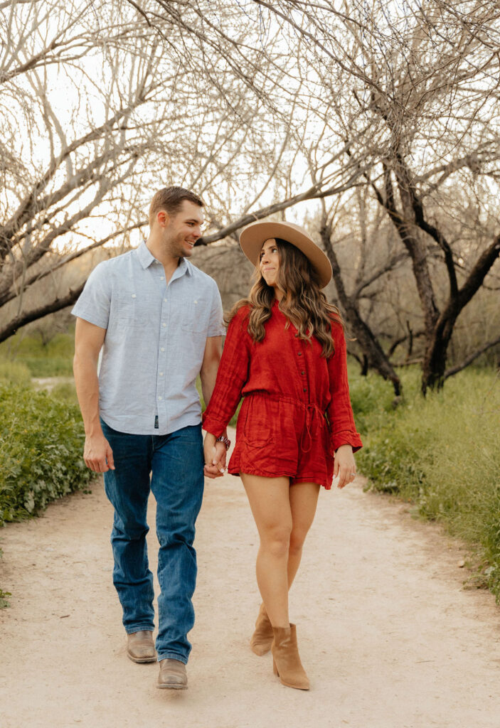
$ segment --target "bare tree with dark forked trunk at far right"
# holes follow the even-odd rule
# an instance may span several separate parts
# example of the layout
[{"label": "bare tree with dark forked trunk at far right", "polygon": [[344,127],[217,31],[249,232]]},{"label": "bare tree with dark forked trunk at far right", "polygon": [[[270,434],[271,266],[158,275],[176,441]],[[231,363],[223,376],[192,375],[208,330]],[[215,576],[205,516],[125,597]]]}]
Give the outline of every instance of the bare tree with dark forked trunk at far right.
[{"label": "bare tree with dark forked trunk at far right", "polygon": [[[500,9],[480,0],[253,4],[308,49],[309,74],[326,99],[315,112],[335,111],[349,164],[364,166],[410,256],[426,338],[422,389],[439,388],[456,320],[500,255],[500,225],[484,207],[490,240],[474,260],[469,251],[459,277],[464,246],[448,240],[440,207],[453,186],[467,185],[476,199],[481,178],[498,194]],[[448,277],[442,301],[429,266],[436,248]]]}]

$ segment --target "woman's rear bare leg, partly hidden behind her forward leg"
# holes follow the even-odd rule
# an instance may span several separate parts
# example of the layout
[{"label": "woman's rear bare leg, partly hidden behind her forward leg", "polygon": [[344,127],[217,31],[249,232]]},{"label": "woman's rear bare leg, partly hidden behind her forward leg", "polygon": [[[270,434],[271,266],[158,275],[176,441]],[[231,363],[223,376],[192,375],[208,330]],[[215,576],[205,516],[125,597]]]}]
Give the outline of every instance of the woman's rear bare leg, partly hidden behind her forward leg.
[{"label": "woman's rear bare leg, partly hidden behind her forward leg", "polygon": [[298,565],[301,563],[303,542],[314,521],[320,486],[317,483],[294,483],[290,486],[292,531],[288,550],[288,588],[290,589]]}]

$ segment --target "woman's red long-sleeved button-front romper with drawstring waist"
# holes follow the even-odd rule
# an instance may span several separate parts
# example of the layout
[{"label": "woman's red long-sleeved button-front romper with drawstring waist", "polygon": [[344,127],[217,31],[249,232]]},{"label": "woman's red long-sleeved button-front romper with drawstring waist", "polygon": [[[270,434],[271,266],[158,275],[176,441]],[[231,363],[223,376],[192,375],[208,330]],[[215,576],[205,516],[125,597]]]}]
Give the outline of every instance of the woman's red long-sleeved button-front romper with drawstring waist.
[{"label": "woman's red long-sleeved button-front romper with drawstring waist", "polygon": [[304,341],[292,323],[286,327],[278,301],[258,343],[247,331],[249,312],[243,306],[229,324],[203,429],[221,435],[243,397],[229,472],[287,475],[290,483],[329,490],[336,449],[362,447],[349,400],[344,330],[333,320],[335,353],[325,359],[314,336]]}]

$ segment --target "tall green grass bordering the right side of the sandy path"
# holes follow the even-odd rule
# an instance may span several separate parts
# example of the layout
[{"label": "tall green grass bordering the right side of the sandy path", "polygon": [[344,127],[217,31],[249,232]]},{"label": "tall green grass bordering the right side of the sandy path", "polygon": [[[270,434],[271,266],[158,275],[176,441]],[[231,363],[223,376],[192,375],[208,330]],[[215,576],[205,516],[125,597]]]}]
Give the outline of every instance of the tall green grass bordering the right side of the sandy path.
[{"label": "tall green grass bordering the right side of the sandy path", "polygon": [[500,600],[499,376],[469,369],[425,399],[408,391],[405,384],[404,402],[385,422],[367,419],[360,470],[373,488],[412,501],[467,540]]}]

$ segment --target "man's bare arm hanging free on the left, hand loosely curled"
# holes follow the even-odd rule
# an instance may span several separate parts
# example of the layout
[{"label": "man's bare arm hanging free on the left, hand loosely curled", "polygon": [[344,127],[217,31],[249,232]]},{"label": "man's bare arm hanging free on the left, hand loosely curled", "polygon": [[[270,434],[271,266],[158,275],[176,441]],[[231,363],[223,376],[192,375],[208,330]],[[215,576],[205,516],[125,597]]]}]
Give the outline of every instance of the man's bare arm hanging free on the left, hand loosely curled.
[{"label": "man's bare arm hanging free on the left, hand loosely curled", "polygon": [[73,371],[85,428],[84,461],[94,472],[114,470],[113,452],[99,420],[98,358],[106,329],[76,318]]}]

